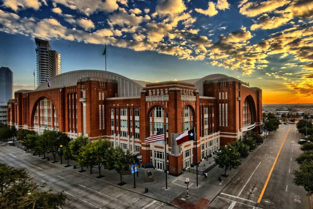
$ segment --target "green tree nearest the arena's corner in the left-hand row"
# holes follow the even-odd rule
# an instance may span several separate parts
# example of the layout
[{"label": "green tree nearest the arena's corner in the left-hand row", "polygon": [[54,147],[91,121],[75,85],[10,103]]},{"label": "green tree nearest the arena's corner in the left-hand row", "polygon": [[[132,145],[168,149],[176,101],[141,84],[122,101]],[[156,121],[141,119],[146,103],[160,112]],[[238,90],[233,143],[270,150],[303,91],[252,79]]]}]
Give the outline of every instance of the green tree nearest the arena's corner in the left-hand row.
[{"label": "green tree nearest the arena's corner in the left-hand row", "polygon": [[131,164],[132,159],[133,156],[128,149],[126,153],[120,146],[117,146],[115,148],[110,147],[108,149],[108,168],[109,170],[115,170],[118,174],[120,174],[120,185],[123,185],[123,172]]}]

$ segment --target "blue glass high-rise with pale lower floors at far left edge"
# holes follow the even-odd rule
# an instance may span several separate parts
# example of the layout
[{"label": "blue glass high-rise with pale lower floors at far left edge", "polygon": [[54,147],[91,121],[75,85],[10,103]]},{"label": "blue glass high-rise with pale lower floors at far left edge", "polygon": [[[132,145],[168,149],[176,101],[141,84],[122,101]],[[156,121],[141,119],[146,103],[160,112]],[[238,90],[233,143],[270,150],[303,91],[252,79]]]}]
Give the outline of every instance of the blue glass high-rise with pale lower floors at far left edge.
[{"label": "blue glass high-rise with pale lower floors at far left edge", "polygon": [[8,101],[12,99],[13,72],[8,67],[0,69],[0,123],[7,124]]}]

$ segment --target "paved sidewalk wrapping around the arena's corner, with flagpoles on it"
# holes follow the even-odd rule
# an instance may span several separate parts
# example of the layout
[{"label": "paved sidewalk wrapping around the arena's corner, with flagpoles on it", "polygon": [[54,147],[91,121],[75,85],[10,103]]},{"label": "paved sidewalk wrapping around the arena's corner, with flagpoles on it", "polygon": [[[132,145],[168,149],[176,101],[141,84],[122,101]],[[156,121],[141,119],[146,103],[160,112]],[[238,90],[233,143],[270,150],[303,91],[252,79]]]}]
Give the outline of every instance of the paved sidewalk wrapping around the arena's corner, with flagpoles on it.
[{"label": "paved sidewalk wrapping around the arena's corner, with flagpoles on it", "polygon": [[[267,140],[267,139],[265,139]],[[218,193],[223,189],[223,187],[232,179],[234,175],[236,175],[239,170],[244,166],[245,162],[247,162],[250,158],[254,156],[254,154],[258,151],[258,149],[262,146],[259,145],[253,152],[250,152],[249,156],[246,159],[242,159],[240,165],[237,169],[227,170],[227,178],[222,177],[222,181],[218,181],[218,176],[224,174],[224,170],[219,168],[218,166],[215,166],[212,170],[208,171],[208,177],[205,179],[203,175],[198,175],[198,185],[197,188],[197,178],[195,173],[191,173],[188,171],[184,171],[182,175],[175,177],[172,175],[167,175],[167,185],[168,190],[165,190],[165,173],[162,171],[154,170],[154,177],[155,182],[149,182],[145,183],[143,181],[144,176],[144,169],[138,168],[138,177],[137,174],[135,174],[136,178],[136,188],[133,188],[134,186],[134,176],[131,175],[123,175],[122,180],[126,184],[121,186],[125,189],[135,191],[138,193],[141,193],[143,195],[150,196],[152,198],[158,199],[160,201],[166,201],[168,203],[174,204],[176,206],[182,207],[182,208],[205,208],[210,201],[212,201]],[[16,147],[18,149],[18,147]],[[29,153],[30,154],[30,153]],[[31,155],[31,154],[30,154]],[[42,159],[43,155],[39,157],[38,155],[33,156],[37,159],[47,161],[47,159]],[[46,157],[49,157],[51,163],[53,161],[53,155],[46,154]],[[75,172],[80,173],[81,170],[80,165],[73,161],[69,161],[69,167],[64,167],[67,165],[67,160],[64,160],[64,157],[62,157],[63,164],[60,165],[60,157],[56,156],[56,160],[59,162],[53,163],[56,166],[63,167],[67,170],[72,170]],[[204,166],[204,163],[206,166]],[[211,164],[209,164],[209,161],[203,160],[198,170],[204,170],[205,168],[213,165],[215,162],[211,159]],[[51,163],[52,164],[52,163]],[[77,165],[76,169],[73,169],[73,165]],[[194,167],[196,169],[196,167]],[[99,175],[99,171],[97,168],[93,168],[92,172],[93,174],[90,174],[90,169],[87,169],[84,167],[84,172],[80,173],[82,175],[87,175],[90,177],[94,177],[95,179]],[[105,181],[110,184],[114,184],[116,186],[118,183],[120,183],[120,176],[119,174],[115,173],[113,170],[109,171],[106,169],[101,169],[101,175],[103,175],[103,178],[100,178],[98,180]],[[184,183],[186,180],[186,177],[189,178],[189,197],[187,197],[187,185]],[[149,192],[145,193],[145,188],[148,188]]]}]

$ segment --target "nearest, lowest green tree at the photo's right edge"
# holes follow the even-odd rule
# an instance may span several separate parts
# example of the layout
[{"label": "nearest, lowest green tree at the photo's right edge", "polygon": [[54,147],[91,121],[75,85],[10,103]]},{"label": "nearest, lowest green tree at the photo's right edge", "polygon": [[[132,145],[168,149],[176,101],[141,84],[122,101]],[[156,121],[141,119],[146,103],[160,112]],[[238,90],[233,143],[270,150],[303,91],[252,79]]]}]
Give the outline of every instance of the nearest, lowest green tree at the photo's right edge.
[{"label": "nearest, lowest green tree at the photo's right edge", "polygon": [[307,195],[313,195],[313,163],[305,160],[298,169],[293,170],[295,178],[293,182],[297,186],[303,186]]}]

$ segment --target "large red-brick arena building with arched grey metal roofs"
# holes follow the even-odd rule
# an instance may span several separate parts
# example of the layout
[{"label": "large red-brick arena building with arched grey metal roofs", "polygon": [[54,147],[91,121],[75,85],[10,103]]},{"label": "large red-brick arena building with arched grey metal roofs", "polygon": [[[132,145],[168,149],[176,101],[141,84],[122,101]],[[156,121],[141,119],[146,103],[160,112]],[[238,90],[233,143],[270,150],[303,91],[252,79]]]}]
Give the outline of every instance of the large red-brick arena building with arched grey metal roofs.
[{"label": "large red-brick arena building with arched grey metal roofs", "polygon": [[[20,90],[8,102],[8,124],[31,129],[59,130],[75,139],[107,138],[142,155],[143,165],[180,175],[182,170],[217,152],[220,146],[254,129],[260,132],[262,90],[222,74],[200,79],[150,83],[98,70],[71,71],[42,83],[34,91]],[[164,142],[144,139],[166,124]],[[198,150],[193,141],[171,153],[171,134],[196,127]]]}]

